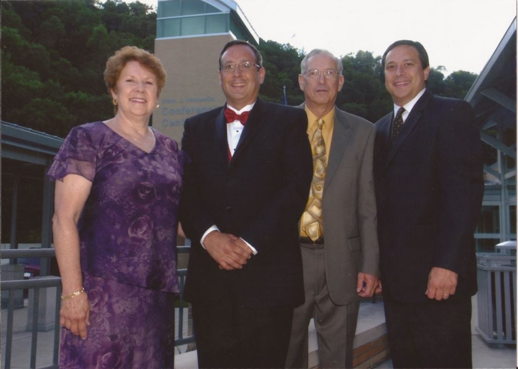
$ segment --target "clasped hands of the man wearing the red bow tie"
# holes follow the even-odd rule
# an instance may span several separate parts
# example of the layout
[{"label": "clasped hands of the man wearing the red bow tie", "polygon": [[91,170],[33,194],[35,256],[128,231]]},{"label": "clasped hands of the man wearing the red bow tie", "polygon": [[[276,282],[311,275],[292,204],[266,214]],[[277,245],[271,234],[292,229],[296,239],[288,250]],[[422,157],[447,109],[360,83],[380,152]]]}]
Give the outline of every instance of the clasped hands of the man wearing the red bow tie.
[{"label": "clasped hands of the man wearing the red bow tie", "polygon": [[220,269],[241,269],[251,258],[252,249],[233,234],[212,231],[203,242],[209,255],[218,264]]}]

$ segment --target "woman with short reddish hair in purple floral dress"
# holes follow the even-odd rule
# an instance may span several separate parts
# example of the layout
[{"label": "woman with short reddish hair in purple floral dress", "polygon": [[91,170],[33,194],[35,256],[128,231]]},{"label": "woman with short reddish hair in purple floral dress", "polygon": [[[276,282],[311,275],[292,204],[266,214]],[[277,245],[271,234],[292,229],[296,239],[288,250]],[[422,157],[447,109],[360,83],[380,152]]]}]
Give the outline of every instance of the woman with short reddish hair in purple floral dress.
[{"label": "woman with short reddish hair in purple floral dress", "polygon": [[106,64],[116,115],[73,128],[49,170],[62,284],[60,367],[174,367],[184,154],[149,128],[161,62],[124,47]]}]

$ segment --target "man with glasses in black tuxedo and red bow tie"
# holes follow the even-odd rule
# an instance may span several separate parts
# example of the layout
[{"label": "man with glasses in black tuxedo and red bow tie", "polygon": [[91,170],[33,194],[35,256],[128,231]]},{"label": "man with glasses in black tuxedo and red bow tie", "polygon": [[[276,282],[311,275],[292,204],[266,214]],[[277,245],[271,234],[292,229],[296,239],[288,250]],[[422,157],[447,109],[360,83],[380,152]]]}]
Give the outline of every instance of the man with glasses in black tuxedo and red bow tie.
[{"label": "man with glasses in black tuxedo and red bow tie", "polygon": [[307,116],[258,98],[265,70],[249,43],[228,42],[219,65],[227,103],[185,120],[182,139],[192,160],[180,214],[192,240],[184,297],[198,365],[282,367],[293,308],[304,302],[297,222],[312,178]]}]

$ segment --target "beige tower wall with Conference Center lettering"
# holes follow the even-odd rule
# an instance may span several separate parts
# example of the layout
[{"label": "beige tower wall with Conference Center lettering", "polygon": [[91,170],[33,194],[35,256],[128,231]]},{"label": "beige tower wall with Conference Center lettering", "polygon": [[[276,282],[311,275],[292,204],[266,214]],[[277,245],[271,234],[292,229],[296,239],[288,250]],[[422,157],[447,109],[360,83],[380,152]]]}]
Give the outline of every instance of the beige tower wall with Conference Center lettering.
[{"label": "beige tower wall with Conference Center lettering", "polygon": [[153,128],[180,144],[186,118],[225,104],[218,78],[218,58],[231,35],[155,40],[155,55],[167,72]]}]

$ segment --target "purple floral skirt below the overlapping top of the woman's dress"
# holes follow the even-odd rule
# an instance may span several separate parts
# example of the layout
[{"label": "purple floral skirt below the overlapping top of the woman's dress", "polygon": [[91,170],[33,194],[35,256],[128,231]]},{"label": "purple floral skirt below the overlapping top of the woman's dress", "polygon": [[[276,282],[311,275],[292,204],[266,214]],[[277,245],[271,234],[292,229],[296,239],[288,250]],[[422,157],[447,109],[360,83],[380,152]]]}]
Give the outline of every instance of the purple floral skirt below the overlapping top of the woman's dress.
[{"label": "purple floral skirt below the overlapping top of the woman's dress", "polygon": [[88,336],[62,328],[61,368],[173,368],[175,294],[83,273]]}]

